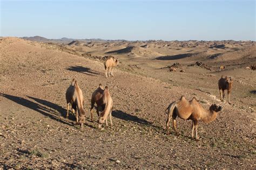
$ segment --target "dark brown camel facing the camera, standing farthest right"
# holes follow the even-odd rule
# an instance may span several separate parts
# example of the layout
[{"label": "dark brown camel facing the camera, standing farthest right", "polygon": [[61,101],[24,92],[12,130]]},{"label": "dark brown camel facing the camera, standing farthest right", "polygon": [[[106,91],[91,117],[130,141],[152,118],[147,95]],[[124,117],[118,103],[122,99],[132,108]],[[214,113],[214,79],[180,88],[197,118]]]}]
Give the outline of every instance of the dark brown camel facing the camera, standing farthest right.
[{"label": "dark brown camel facing the camera, standing farthest right", "polygon": [[[233,86],[234,79],[232,77],[224,77],[221,76],[221,78],[218,81],[219,85],[219,91],[220,91],[220,101],[224,100],[225,93],[224,91],[227,90],[227,98],[228,98],[228,104],[230,103],[230,92]],[[223,93],[223,96],[221,95],[221,91]]]}]

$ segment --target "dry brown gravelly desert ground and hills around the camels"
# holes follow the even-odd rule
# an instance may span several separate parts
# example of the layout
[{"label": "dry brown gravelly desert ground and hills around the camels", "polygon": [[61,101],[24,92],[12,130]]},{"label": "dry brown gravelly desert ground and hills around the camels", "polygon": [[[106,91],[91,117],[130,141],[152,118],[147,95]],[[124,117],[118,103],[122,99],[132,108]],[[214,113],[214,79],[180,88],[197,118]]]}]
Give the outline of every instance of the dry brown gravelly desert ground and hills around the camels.
[{"label": "dry brown gravelly desert ground and hills around the camels", "polygon": [[[69,44],[69,45],[68,45]],[[216,45],[224,44],[221,49]],[[215,47],[213,47],[215,46]],[[255,168],[255,42],[67,42],[0,38],[0,169],[8,168]],[[85,55],[90,54],[90,55]],[[105,78],[103,56],[120,59]],[[97,56],[97,57],[95,57]],[[206,70],[187,66],[203,62]],[[185,73],[168,72],[179,62]],[[226,65],[219,71],[220,65]],[[229,105],[219,100],[221,75],[235,81]],[[78,80],[86,124],[66,114],[65,91]],[[100,131],[89,119],[92,92],[102,83],[113,99],[113,127]],[[205,108],[222,105],[215,121],[177,119],[166,135],[166,107],[185,95]]]}]

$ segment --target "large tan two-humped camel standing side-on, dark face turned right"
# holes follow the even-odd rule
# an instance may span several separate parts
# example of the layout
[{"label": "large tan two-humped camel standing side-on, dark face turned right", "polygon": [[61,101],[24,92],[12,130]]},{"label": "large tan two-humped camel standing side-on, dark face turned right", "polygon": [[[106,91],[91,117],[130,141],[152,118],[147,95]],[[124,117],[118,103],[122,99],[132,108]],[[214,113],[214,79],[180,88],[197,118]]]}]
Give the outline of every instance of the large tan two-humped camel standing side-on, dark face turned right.
[{"label": "large tan two-humped camel standing side-on, dark face turned right", "polygon": [[205,123],[211,123],[211,121],[215,120],[219,111],[222,110],[222,106],[218,106],[216,104],[212,104],[208,111],[206,111],[196,100],[193,98],[188,101],[184,96],[181,96],[179,100],[173,101],[167,107],[165,113],[168,115],[166,121],[166,134],[169,135],[169,126],[172,118],[172,126],[176,132],[176,135],[179,135],[176,128],[176,118],[177,116],[181,119],[192,120],[192,138],[194,138],[194,129],[196,129],[196,140],[199,140],[199,136],[197,134],[198,121],[202,120]]}]

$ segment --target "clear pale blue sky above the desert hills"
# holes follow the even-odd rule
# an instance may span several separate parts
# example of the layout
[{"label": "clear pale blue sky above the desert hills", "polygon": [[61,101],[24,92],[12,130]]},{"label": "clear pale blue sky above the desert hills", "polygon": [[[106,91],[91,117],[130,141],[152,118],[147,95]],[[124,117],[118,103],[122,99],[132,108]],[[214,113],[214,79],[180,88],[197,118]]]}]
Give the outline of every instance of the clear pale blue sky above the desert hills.
[{"label": "clear pale blue sky above the desert hills", "polygon": [[254,0],[0,1],[4,37],[256,40]]}]

